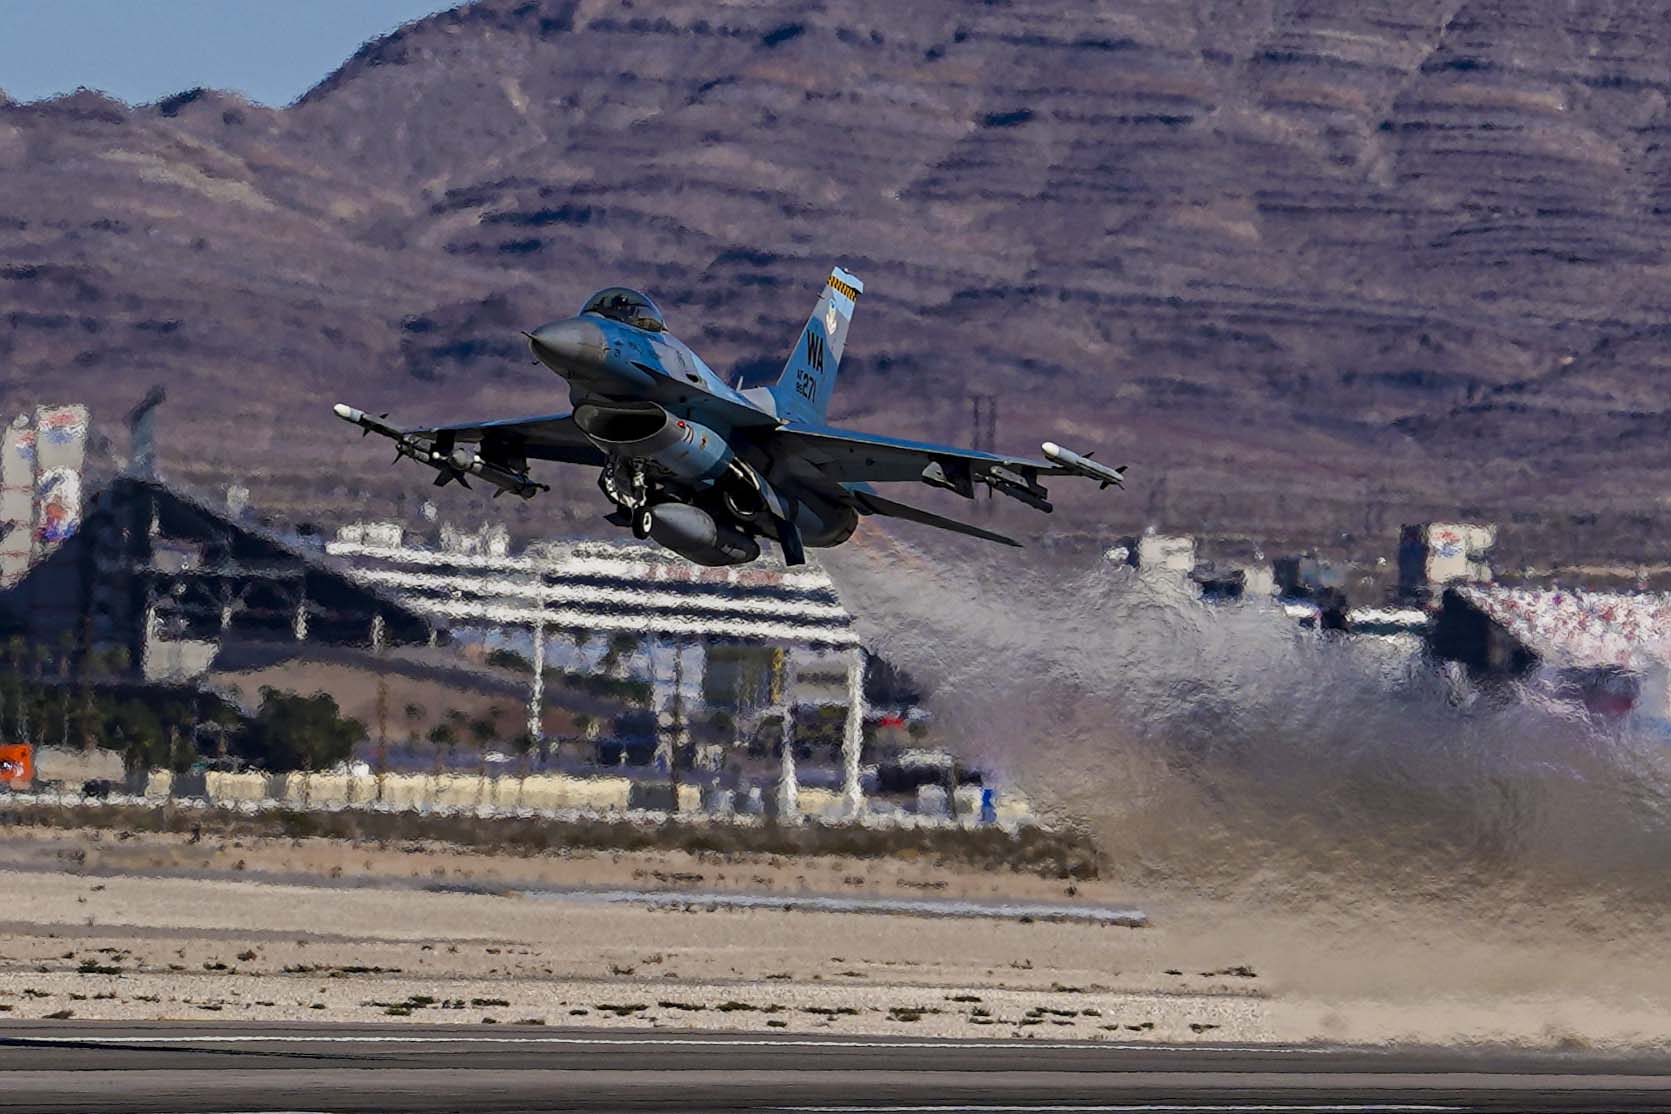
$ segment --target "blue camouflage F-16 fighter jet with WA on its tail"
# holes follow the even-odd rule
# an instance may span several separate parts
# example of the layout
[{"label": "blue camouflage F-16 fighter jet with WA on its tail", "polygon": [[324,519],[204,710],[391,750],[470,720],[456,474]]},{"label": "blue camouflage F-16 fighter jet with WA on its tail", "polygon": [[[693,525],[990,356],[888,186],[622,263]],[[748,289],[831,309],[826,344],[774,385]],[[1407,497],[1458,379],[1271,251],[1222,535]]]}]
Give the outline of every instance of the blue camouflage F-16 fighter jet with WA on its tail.
[{"label": "blue camouflage F-16 fighter jet with WA on its tail", "polygon": [[578,317],[525,334],[535,357],[568,381],[566,414],[404,429],[353,406],[338,418],[394,441],[436,471],[436,486],[470,476],[531,498],[548,491],[528,461],[602,469],[607,518],[698,565],[742,565],[775,539],[785,565],[807,546],[837,546],[861,514],[887,514],[1003,544],[1003,534],[877,494],[872,483],[917,481],[974,498],[986,484],[1051,511],[1041,476],[1120,484],[1125,468],[1044,443],[1046,459],[901,441],[825,424],[836,369],[864,284],[830,272],[777,382],[737,389],[667,331],[662,311],[625,287],[598,291]]}]

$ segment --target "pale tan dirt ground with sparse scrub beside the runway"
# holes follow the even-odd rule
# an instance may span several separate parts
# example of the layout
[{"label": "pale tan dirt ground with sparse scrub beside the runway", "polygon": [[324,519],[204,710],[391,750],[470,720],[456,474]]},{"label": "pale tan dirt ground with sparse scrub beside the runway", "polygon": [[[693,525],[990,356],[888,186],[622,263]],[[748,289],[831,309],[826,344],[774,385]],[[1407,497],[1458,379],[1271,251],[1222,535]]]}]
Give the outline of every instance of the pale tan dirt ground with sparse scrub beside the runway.
[{"label": "pale tan dirt ground with sparse scrub beside the runway", "polygon": [[[1136,905],[1143,929],[531,890]],[[0,830],[7,1017],[1671,1047],[1666,955],[1330,924],[912,860]],[[65,1014],[69,1012],[69,1014]]]}]

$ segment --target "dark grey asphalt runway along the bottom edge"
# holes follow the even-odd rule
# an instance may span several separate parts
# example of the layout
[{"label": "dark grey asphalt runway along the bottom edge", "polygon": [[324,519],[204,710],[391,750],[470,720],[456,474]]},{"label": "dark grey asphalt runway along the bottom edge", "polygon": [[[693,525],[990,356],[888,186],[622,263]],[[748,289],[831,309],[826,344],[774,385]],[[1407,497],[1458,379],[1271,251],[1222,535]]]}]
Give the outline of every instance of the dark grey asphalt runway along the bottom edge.
[{"label": "dark grey asphalt runway along the bottom edge", "polygon": [[8,1112],[1671,1111],[1671,1062],[535,1025],[0,1022]]}]

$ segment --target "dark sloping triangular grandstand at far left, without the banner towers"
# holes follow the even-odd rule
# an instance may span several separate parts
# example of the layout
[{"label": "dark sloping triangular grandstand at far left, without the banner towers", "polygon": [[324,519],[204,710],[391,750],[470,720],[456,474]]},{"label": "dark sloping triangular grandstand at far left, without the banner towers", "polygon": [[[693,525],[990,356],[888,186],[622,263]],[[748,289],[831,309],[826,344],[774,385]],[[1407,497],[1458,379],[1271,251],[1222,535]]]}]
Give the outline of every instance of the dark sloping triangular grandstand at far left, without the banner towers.
[{"label": "dark sloping triangular grandstand at far left, without the banner towers", "polygon": [[[224,693],[229,675],[266,671],[287,688],[286,670],[334,661],[354,671],[383,646],[444,640],[323,551],[159,479],[120,476],[84,511],[0,590],[0,631],[62,650],[70,676]],[[312,680],[329,691],[324,676]]]}]

